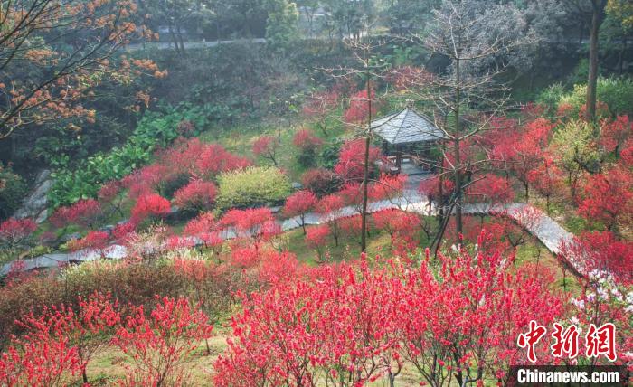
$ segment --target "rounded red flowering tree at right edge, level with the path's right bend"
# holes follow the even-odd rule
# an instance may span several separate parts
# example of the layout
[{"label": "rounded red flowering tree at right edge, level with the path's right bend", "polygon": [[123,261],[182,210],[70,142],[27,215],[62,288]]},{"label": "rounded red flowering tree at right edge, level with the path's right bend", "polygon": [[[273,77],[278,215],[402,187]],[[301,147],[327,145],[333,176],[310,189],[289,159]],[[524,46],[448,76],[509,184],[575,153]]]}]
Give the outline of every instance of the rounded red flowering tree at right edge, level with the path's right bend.
[{"label": "rounded red flowering tree at right edge, level with the path's right bend", "polygon": [[618,166],[604,174],[590,175],[583,186],[578,212],[590,222],[602,222],[609,231],[630,222],[633,211],[633,175]]}]

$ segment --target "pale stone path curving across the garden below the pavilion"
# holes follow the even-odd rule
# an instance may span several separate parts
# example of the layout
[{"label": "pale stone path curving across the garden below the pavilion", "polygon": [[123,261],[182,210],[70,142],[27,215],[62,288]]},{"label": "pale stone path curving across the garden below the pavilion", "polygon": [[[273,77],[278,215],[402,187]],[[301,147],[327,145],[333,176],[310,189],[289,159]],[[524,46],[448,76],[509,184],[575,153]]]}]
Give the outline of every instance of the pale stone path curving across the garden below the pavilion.
[{"label": "pale stone path curving across the garden below the pavilion", "polygon": [[[379,202],[369,203],[369,212],[379,212],[388,209],[400,209],[407,212],[416,212],[424,215],[432,215],[435,213],[435,208],[429,206],[428,200],[420,196],[419,193],[413,191],[407,191],[401,197],[392,200],[383,200]],[[524,216],[525,210],[528,210],[533,215]],[[552,218],[545,215],[540,210],[534,209],[526,203],[510,203],[504,206],[497,206],[491,208],[482,204],[468,204],[464,207],[464,213],[476,214],[476,213],[489,213],[503,211],[505,216],[513,219],[517,224],[525,228],[534,235],[539,241],[547,247],[548,250],[554,254],[558,254],[559,247],[562,242],[571,242],[573,234],[564,230],[561,225],[554,222]],[[355,207],[344,207],[343,209],[330,213],[328,216],[334,216],[335,218],[346,218],[357,215],[358,211]],[[529,219],[527,219],[529,218]],[[321,216],[314,212],[307,213],[305,217],[306,224],[314,225],[320,224],[327,220],[327,216]],[[279,222],[282,231],[290,231],[301,227],[301,220],[298,217],[287,219],[283,222]],[[231,230],[223,231],[222,237],[224,239],[232,239],[235,234]],[[80,250],[71,253],[53,253],[44,254],[40,257],[23,260],[23,266],[21,270],[31,269],[46,269],[55,268],[68,263],[79,263],[90,260],[99,260],[102,258],[110,260],[118,260],[124,258],[127,255],[126,248],[121,245],[111,245],[104,250]],[[582,271],[580,265],[570,262],[573,269]],[[6,275],[11,270],[12,263],[7,263],[2,269],[0,269],[0,276]]]}]

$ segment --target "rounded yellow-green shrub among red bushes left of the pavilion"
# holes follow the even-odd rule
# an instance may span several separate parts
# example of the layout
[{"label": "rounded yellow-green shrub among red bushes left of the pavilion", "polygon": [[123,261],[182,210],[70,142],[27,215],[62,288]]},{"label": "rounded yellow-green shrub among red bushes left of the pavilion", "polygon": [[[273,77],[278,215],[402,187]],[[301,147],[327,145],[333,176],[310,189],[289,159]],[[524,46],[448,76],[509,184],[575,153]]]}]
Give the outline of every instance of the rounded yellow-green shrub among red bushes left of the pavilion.
[{"label": "rounded yellow-green shrub among red bushes left of the pavilion", "polygon": [[218,210],[281,203],[290,193],[288,177],[274,167],[250,167],[218,177]]}]

